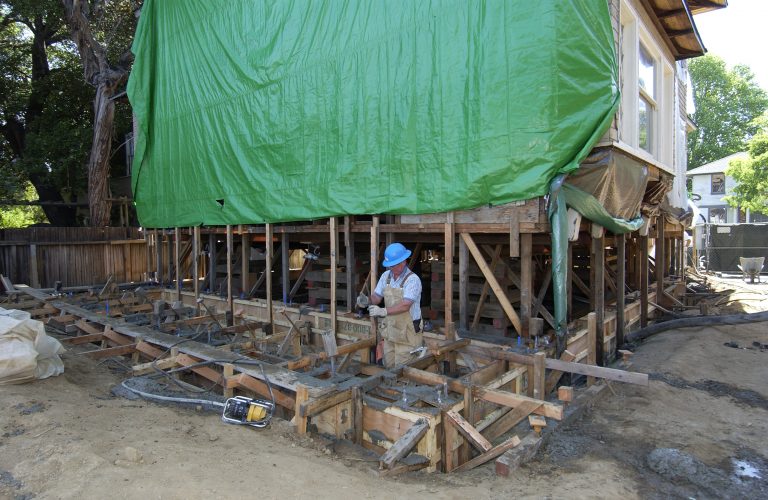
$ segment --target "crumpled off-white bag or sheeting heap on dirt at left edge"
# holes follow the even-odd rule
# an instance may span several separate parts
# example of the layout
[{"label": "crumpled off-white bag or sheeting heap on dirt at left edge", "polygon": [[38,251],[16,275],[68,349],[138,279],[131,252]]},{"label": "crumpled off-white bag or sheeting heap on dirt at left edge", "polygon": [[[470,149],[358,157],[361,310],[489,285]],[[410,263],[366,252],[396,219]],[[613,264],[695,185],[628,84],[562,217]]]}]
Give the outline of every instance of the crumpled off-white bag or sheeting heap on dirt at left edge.
[{"label": "crumpled off-white bag or sheeting heap on dirt at left edge", "polygon": [[46,335],[43,324],[29,313],[0,308],[0,385],[61,375],[63,352],[61,343]]}]

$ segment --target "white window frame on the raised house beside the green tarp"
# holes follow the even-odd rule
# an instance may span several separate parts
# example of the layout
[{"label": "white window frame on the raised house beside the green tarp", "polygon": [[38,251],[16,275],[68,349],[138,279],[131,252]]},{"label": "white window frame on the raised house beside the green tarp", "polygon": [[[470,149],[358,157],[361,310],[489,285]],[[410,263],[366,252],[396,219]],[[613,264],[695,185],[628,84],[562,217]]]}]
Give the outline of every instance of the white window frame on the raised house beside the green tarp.
[{"label": "white window frame on the raised house beside the green tarp", "polygon": [[[671,54],[662,49],[646,25],[646,20],[627,0],[622,0],[621,24],[621,113],[619,142],[636,156],[648,158],[674,171],[675,66]],[[648,95],[639,83],[640,44],[654,61],[654,92]],[[643,96],[653,106],[650,151],[640,147],[639,101]]]}]

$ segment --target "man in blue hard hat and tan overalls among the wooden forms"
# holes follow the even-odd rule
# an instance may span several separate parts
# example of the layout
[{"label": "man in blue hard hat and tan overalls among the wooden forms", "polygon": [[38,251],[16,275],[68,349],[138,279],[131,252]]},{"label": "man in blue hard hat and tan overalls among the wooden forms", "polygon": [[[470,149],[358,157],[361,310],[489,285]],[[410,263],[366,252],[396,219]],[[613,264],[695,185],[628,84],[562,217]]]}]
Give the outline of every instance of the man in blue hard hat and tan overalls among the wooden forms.
[{"label": "man in blue hard hat and tan overalls among the wooden forms", "polygon": [[[400,243],[384,250],[384,267],[371,294],[368,313],[382,318],[384,366],[391,368],[415,358],[415,350],[423,346],[421,332],[421,279],[408,269],[411,251]],[[384,299],[384,307],[379,307]]]}]

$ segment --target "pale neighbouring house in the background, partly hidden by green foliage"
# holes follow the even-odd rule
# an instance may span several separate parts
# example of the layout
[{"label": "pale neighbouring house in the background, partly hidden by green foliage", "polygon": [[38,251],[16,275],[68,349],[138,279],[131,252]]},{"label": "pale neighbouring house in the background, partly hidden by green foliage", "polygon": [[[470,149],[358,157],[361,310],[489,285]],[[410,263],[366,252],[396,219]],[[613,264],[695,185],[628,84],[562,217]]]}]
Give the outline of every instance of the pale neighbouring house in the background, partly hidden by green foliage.
[{"label": "pale neighbouring house in the background, partly hidden by green foliage", "polygon": [[743,151],[734,153],[686,173],[691,179],[691,192],[694,195],[695,203],[707,222],[712,224],[768,222],[768,216],[751,213],[749,210],[739,216],[739,210],[724,200],[726,196],[733,193],[733,189],[736,187],[736,181],[733,177],[725,175],[728,165],[733,160],[742,160],[748,157],[749,154]]}]

